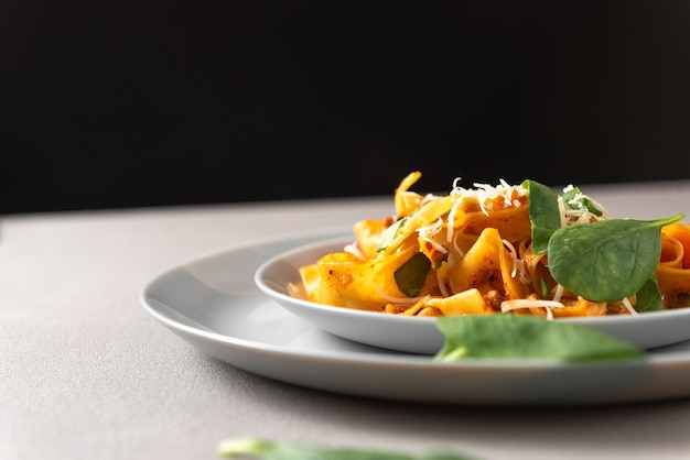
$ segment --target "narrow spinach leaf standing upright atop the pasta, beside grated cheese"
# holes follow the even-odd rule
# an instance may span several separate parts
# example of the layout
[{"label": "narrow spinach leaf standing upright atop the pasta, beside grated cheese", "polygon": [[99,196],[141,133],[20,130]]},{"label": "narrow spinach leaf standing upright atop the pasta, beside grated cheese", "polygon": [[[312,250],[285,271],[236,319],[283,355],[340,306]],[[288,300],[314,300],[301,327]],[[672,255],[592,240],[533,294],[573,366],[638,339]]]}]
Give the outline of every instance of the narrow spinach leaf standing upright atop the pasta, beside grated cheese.
[{"label": "narrow spinach leaf standing upright atop the pasta, beside grated cheese", "polygon": [[535,180],[524,180],[529,191],[529,220],[531,222],[532,252],[547,252],[551,234],[561,228],[561,211],[558,195],[550,187]]}]

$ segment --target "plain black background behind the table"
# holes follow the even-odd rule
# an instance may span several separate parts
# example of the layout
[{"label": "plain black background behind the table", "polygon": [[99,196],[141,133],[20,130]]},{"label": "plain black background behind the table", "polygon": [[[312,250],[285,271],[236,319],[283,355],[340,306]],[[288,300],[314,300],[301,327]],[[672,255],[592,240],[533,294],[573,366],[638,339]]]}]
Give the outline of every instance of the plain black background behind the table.
[{"label": "plain black background behind the table", "polygon": [[688,178],[687,1],[0,4],[0,213]]}]

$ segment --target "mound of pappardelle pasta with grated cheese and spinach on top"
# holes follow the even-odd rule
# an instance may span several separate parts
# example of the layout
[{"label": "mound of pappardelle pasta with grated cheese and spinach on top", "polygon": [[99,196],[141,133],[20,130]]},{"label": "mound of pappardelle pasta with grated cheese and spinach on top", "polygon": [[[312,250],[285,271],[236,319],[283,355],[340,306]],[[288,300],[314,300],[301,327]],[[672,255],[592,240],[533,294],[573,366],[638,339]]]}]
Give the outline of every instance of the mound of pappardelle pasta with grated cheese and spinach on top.
[{"label": "mound of pappardelle pasta with grated cheese and spinach on top", "polygon": [[354,241],[300,267],[291,295],[396,315],[549,319],[690,306],[690,224],[614,219],[569,186],[526,180],[395,191],[395,216],[354,223]]}]

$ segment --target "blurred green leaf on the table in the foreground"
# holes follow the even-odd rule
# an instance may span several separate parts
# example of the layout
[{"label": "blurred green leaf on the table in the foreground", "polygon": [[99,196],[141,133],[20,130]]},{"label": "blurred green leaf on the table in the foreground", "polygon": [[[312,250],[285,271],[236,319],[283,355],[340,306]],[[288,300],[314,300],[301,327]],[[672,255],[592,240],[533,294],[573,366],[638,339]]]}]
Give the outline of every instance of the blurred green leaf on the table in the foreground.
[{"label": "blurred green leaf on the table in the foreground", "polygon": [[470,457],[450,451],[432,451],[414,456],[405,452],[336,448],[321,443],[270,441],[260,438],[230,438],[216,448],[222,457],[265,460],[471,460]]}]

